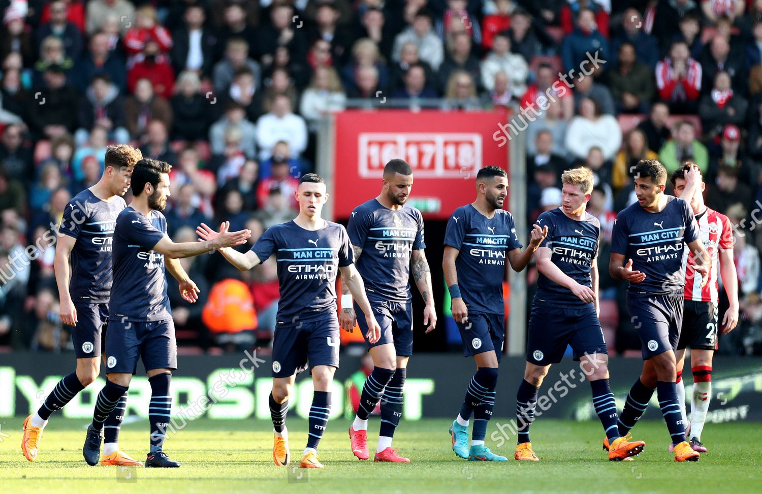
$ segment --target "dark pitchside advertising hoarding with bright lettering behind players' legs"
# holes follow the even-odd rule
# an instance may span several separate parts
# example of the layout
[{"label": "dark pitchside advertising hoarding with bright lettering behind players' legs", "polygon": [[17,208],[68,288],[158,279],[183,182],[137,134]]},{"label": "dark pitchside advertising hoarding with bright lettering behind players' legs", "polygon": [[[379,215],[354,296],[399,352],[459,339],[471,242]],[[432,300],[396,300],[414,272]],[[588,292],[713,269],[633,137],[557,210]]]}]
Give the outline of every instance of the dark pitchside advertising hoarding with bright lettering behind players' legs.
[{"label": "dark pitchside advertising hoarding with bright lettering behind players' legs", "polygon": [[[184,419],[270,419],[267,397],[271,390],[269,356],[231,354],[226,356],[181,356],[174,372],[171,392],[172,415]],[[331,416],[352,416],[348,384],[360,367],[354,357],[342,355],[336,372]],[[690,366],[686,366],[690,368]],[[712,371],[712,402],[709,422],[762,420],[762,359],[715,359]],[[74,368],[73,354],[13,353],[0,355],[0,418],[26,416],[37,410],[56,382]],[[494,415],[512,417],[516,391],[523,376],[524,360],[504,358],[501,362]],[[639,359],[612,359],[611,388],[620,408],[642,368]],[[141,368],[142,370],[142,368]],[[452,417],[459,410],[466,385],[474,371],[472,359],[462,355],[414,355],[405,384],[403,419]],[[686,397],[690,399],[689,387]],[[290,400],[290,416],[306,418],[312,402],[312,381],[303,373],[297,378],[296,396]],[[597,420],[590,386],[578,363],[565,360],[553,365],[539,391],[538,416],[557,419]],[[103,378],[78,394],[63,410],[63,416],[88,419]],[[141,371],[133,378],[127,415],[148,417],[151,387]],[[646,419],[660,419],[656,394]]]}]

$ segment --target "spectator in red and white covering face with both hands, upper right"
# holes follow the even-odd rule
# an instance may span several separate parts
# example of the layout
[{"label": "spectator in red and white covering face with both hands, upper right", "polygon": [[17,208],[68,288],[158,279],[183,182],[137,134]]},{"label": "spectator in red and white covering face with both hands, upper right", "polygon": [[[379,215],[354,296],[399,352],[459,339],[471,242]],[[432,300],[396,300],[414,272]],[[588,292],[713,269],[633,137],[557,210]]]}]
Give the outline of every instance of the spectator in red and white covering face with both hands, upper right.
[{"label": "spectator in red and white covering face with both hands, upper right", "polygon": [[669,56],[656,64],[659,98],[671,113],[696,113],[701,93],[701,64],[690,58],[684,41],[671,44]]}]

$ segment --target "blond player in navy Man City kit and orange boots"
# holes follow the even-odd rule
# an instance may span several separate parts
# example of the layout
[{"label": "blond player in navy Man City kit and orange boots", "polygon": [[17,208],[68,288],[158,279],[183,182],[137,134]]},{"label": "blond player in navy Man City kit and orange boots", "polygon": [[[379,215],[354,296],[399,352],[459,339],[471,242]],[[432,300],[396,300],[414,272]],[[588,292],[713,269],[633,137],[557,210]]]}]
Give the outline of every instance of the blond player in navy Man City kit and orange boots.
[{"label": "blond player in navy Man City kit and orange boots", "polygon": [[593,192],[593,172],[565,171],[562,206],[543,212],[537,224],[548,236],[537,250],[537,292],[532,304],[527,366],[516,398],[518,445],[514,457],[537,461],[529,437],[537,391],[551,364],[561,362],[566,346],[581,361],[590,381],[593,405],[610,442],[609,460],[639,454],[643,441],[629,441],[616,426],[616,401],[609,385],[608,352],[598,321],[598,247],[600,223],[585,209]]}]

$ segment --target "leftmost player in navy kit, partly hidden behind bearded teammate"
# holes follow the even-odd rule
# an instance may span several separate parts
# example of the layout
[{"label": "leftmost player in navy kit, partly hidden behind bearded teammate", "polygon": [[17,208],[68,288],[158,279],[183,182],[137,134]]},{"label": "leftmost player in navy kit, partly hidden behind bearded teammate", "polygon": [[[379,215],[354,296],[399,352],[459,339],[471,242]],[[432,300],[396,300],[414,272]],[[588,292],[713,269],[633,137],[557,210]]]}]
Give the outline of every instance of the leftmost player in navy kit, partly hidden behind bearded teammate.
[{"label": "leftmost player in navy kit, partly hidden behind bearded teammate", "polygon": [[[69,326],[77,368],[56,384],[37,413],[24,420],[21,450],[28,461],[37,458],[50,415],[95,381],[101,370],[101,341],[109,314],[114,224],[126,207],[122,196],[130,188],[130,176],[140,158],[139,149],[128,145],[109,146],[101,180],[74,196],[63,212],[53,266],[61,300],[61,321]],[[126,395],[106,419],[106,445],[101,464],[140,465],[119,449],[119,428],[125,407]]]}]

